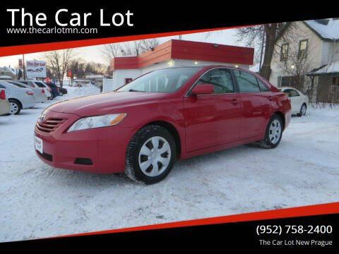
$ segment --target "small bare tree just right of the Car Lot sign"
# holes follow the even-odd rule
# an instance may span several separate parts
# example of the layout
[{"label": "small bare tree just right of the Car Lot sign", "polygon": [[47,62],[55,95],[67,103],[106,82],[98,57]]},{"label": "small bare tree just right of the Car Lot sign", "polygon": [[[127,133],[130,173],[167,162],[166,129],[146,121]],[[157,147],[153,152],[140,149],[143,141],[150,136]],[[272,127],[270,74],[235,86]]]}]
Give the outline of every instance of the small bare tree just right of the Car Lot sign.
[{"label": "small bare tree just right of the Car Lot sign", "polygon": [[73,49],[62,49],[58,51],[47,52],[45,58],[52,72],[59,80],[60,87],[63,85],[64,75],[68,71],[69,64],[73,59]]}]

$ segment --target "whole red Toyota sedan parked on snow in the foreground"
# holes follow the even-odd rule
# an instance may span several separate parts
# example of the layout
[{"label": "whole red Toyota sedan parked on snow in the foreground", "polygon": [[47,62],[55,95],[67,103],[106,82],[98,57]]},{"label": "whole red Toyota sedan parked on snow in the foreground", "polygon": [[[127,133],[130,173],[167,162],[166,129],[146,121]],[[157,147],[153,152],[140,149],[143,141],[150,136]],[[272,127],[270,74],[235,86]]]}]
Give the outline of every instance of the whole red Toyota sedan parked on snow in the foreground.
[{"label": "whole red Toyota sedan parked on snow in the foreground", "polygon": [[176,159],[252,142],[276,147],[290,114],[287,96],[251,71],[166,68],[47,108],[35,126],[35,150],[53,167],[156,183]]}]

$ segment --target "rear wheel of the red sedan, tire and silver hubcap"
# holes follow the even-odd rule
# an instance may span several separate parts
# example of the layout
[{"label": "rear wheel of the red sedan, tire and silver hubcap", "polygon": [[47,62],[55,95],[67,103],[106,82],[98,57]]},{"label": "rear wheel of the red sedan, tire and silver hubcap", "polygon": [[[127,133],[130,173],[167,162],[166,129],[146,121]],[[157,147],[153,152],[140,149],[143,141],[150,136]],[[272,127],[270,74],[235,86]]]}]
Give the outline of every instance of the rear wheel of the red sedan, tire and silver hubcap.
[{"label": "rear wheel of the red sedan, tire and silver hubcap", "polygon": [[280,116],[273,115],[266,126],[265,138],[261,140],[261,146],[267,149],[275,148],[279,145],[283,137],[283,121]]}]

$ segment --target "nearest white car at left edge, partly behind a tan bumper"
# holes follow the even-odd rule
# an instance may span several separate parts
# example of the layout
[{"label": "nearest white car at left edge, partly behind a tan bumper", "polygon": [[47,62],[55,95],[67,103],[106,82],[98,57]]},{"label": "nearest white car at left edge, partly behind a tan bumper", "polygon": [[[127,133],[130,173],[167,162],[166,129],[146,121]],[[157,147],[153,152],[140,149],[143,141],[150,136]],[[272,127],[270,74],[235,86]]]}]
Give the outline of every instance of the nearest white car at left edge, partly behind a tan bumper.
[{"label": "nearest white car at left edge, partly behind a tan bumper", "polygon": [[6,97],[11,105],[9,114],[19,114],[21,109],[34,107],[35,100],[32,89],[20,88],[3,80],[0,80],[0,88],[6,90]]}]

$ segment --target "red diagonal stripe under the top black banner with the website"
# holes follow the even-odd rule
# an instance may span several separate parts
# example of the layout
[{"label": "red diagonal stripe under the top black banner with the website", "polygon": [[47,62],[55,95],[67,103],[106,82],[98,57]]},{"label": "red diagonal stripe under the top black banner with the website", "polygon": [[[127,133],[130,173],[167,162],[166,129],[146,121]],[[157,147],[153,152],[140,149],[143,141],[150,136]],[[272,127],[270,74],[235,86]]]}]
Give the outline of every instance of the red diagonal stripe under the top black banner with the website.
[{"label": "red diagonal stripe under the top black banner with the website", "polygon": [[8,47],[0,47],[0,56],[12,56],[17,54],[30,54],[37,52],[47,52],[52,50],[59,49],[71,49],[77,47],[88,47],[95,46],[100,44],[109,44],[109,43],[117,43],[117,42],[128,42],[133,40],[145,40],[156,37],[167,37],[174,35],[189,35],[197,32],[212,32],[219,30],[227,30],[234,28],[242,28],[244,26],[235,26],[228,28],[208,28],[201,30],[186,30],[186,31],[177,31],[177,32],[160,32],[153,33],[148,35],[129,35],[129,36],[120,36],[120,37],[107,37],[100,39],[88,39],[88,40],[73,40],[66,42],[49,42],[49,43],[40,43],[40,44],[27,44],[27,45],[19,45],[19,46],[8,46]]}]

